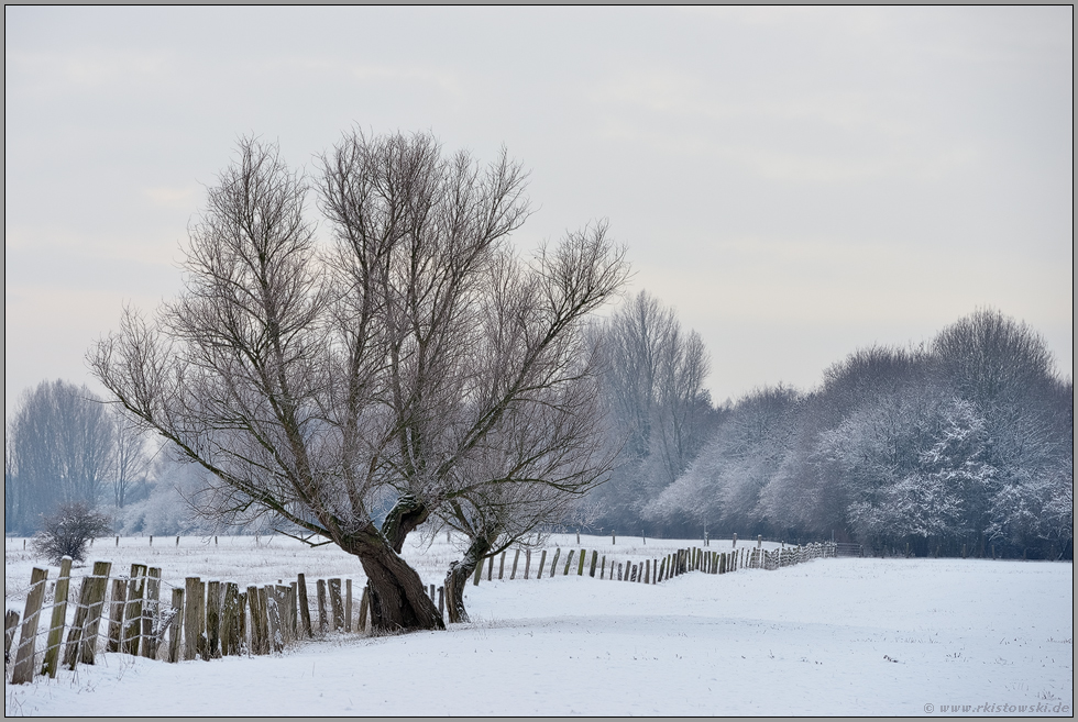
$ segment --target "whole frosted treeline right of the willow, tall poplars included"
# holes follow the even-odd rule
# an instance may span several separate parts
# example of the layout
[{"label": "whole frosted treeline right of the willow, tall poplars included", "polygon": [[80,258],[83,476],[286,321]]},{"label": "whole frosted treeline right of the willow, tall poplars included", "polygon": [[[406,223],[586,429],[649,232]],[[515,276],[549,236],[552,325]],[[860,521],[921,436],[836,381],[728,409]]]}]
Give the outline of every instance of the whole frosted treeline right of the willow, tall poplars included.
[{"label": "whole frosted treeline right of the willow, tall poplars included", "polygon": [[646,295],[604,327],[623,445],[594,524],[1072,557],[1074,386],[1028,325],[979,310],[922,347],[859,349],[814,390],[719,409],[696,341]]}]

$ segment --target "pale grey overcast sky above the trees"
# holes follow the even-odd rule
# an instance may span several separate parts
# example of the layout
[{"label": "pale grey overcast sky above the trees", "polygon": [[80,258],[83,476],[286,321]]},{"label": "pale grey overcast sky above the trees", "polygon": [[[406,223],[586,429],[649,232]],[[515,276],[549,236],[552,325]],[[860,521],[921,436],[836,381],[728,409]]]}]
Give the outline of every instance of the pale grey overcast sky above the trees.
[{"label": "pale grey overcast sky above the trees", "polygon": [[353,125],[531,169],[522,246],[608,219],[716,401],[978,307],[1072,376],[1072,9],[4,9],[4,393],[180,289],[241,134]]}]

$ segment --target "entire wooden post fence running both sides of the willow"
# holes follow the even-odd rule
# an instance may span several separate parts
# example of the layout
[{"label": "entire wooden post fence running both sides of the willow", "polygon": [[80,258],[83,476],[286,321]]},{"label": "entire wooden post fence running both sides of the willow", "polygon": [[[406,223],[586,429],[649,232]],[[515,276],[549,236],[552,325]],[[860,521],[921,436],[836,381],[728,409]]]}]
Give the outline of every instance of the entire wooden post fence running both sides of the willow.
[{"label": "entire wooden post fence running both sides of the willow", "polygon": [[[741,568],[778,569],[821,557],[834,557],[837,545],[832,542],[804,546],[784,546],[768,551],[761,542],[751,548],[712,552],[689,547],[662,557],[644,562],[607,563],[606,555],[592,549],[571,548],[561,557],[554,549],[550,564],[548,551],[541,549],[535,579],[558,576],[659,584],[689,571],[728,574]],[[522,578],[531,577],[532,549],[516,549],[508,578],[516,579],[524,556]],[[473,584],[479,585],[484,573],[494,578],[495,557],[475,568]],[[506,553],[498,560],[497,578],[506,574]],[[48,570],[35,567],[31,573],[25,612],[19,629],[19,613],[4,614],[4,665],[10,662],[15,632],[12,684],[33,680],[35,675],[56,677],[61,666],[74,670],[79,664],[94,664],[100,652],[119,652],[134,656],[179,662],[180,659],[215,659],[222,656],[279,653],[304,638],[329,632],[365,632],[370,618],[367,590],[359,604],[359,618],[353,617],[352,579],[318,579],[309,584],[305,575],[296,581],[240,588],[233,581],[187,577],[184,586],[162,580],[161,569],[132,564],[129,575],[112,578],[109,562],[95,562],[92,571],[81,577],[77,598],[69,600],[73,578],[72,559],[61,563],[59,578],[48,588]],[[163,588],[170,589],[163,600]],[[51,592],[46,593],[46,592]],[[429,586],[431,601],[444,614],[444,589]],[[46,603],[46,597],[52,597]],[[314,606],[311,603],[314,600]],[[70,602],[70,603],[69,603]],[[70,609],[69,609],[70,608]],[[45,626],[40,621],[48,620]],[[70,618],[70,620],[68,619]],[[38,627],[42,626],[41,630]],[[64,641],[67,632],[66,643]],[[44,643],[38,643],[44,637]],[[63,655],[62,655],[63,653]]]}]

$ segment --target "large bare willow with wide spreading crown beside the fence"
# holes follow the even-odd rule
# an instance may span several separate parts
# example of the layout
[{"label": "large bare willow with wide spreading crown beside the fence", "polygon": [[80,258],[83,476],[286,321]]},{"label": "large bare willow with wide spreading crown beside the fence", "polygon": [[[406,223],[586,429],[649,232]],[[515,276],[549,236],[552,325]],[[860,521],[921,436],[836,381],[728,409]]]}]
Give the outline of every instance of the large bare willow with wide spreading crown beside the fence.
[{"label": "large bare willow with wide spreading crown beside the fence", "polygon": [[152,321],[125,311],[89,354],[131,416],[211,473],[206,510],[275,513],[358,556],[380,630],[442,624],[399,556],[431,515],[473,541],[459,589],[612,463],[581,332],[624,252],[601,224],[519,259],[525,181],[504,152],[481,167],[429,135],[351,133],[322,157],[323,248],[305,179],[244,140],[191,229],[184,293]]}]

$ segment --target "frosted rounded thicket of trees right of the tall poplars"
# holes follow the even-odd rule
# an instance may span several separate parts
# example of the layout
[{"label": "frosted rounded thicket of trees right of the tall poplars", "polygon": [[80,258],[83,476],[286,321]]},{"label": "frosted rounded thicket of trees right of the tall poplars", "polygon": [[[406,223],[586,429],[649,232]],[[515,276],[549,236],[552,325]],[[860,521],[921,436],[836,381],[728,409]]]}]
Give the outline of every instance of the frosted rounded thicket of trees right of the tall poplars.
[{"label": "frosted rounded thicket of trees right of the tall poplars", "polygon": [[1074,554],[1074,386],[1033,329],[983,309],[824,377],[740,399],[644,516],[919,555]]}]

